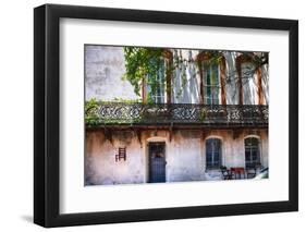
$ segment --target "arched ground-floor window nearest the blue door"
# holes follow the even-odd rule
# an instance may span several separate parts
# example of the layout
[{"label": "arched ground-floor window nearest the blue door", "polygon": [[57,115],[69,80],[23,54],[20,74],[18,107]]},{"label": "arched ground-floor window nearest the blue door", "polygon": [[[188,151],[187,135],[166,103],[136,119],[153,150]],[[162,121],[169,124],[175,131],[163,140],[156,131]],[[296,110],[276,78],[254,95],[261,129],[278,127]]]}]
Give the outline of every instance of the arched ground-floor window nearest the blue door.
[{"label": "arched ground-floor window nearest the blue door", "polygon": [[206,141],[206,168],[219,169],[221,167],[221,139],[208,138]]}]

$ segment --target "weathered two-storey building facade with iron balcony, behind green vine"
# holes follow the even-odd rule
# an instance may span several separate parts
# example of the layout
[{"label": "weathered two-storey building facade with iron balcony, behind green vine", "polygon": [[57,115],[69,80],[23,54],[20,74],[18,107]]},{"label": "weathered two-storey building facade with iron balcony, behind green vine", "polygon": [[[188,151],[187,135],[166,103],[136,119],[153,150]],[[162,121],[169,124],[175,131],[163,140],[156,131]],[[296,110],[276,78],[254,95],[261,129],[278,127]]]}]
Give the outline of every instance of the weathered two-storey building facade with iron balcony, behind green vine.
[{"label": "weathered two-storey building facade with iron balcony, behind green vine", "polygon": [[257,62],[268,54],[215,54],[164,49],[155,91],[144,78],[137,95],[122,47],[85,46],[85,185],[223,180],[223,168],[249,178],[269,167],[268,61]]}]

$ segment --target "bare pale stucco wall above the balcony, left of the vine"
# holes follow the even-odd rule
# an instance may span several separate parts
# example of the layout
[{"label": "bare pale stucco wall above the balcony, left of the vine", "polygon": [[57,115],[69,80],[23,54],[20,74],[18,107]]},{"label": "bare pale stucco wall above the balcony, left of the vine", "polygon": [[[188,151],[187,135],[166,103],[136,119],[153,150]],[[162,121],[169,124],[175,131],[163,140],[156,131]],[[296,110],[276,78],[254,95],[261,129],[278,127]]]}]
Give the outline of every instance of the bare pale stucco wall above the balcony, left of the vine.
[{"label": "bare pale stucco wall above the balcony, left of the vine", "polygon": [[85,95],[86,100],[138,99],[125,73],[122,47],[85,46]]}]

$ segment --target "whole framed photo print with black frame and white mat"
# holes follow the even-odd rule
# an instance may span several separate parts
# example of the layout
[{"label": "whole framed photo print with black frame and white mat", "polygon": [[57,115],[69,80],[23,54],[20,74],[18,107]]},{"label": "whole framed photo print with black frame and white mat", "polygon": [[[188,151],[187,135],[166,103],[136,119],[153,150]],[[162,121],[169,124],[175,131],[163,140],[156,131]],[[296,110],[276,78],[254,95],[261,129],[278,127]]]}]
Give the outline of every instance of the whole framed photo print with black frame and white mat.
[{"label": "whole framed photo print with black frame and white mat", "polygon": [[34,10],[34,222],[296,211],[298,22]]}]

